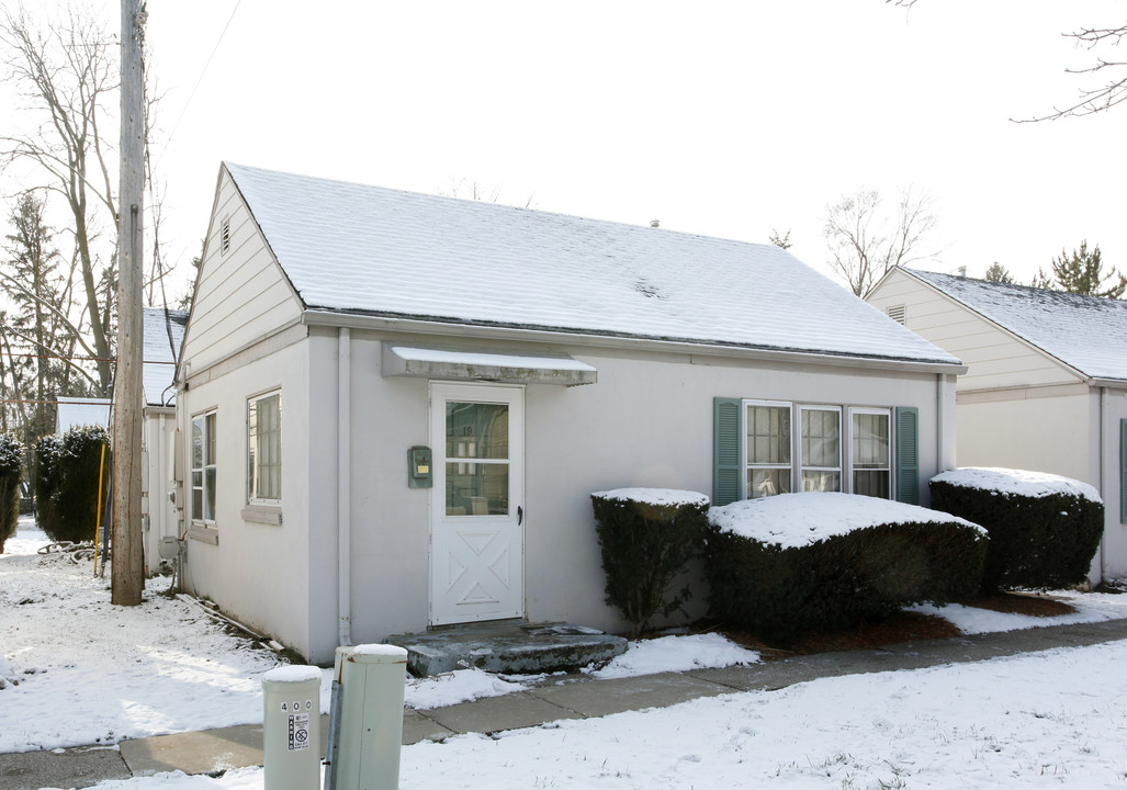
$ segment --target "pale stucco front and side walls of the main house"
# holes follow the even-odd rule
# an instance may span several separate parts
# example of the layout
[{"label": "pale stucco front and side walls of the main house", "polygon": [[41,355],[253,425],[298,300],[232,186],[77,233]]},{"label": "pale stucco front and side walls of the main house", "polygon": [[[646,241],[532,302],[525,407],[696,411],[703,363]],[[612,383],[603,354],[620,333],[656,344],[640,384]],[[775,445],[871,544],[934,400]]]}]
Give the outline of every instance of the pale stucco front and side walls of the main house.
[{"label": "pale stucco front and side walls of the main house", "polygon": [[[433,489],[407,485],[407,451],[434,446],[429,382],[381,375],[388,335],[352,330],[345,421],[350,469],[349,625],[354,642],[421,630],[429,622]],[[397,341],[436,344],[434,338]],[[213,545],[188,540],[189,591],[318,663],[337,645],[338,330],[312,328],[298,340],[196,371],[179,394],[181,427],[216,409],[219,487]],[[474,345],[488,349],[489,344]],[[513,350],[508,344],[506,350]],[[495,348],[499,350],[499,348]],[[525,609],[530,621],[570,621],[619,631],[604,602],[605,579],[592,517],[592,491],[622,486],[712,490],[715,397],[920,409],[921,479],[940,471],[934,373],[695,361],[687,354],[595,348],[566,350],[598,370],[598,383],[525,390]],[[701,364],[703,363],[703,364]],[[246,507],[246,399],[281,388],[283,523],[242,517]],[[947,389],[953,409],[953,388]],[[946,420],[953,426],[949,415]],[[953,436],[947,451],[953,453]],[[185,452],[190,452],[189,442]],[[926,496],[926,485],[922,486]],[[441,506],[441,504],[440,504]],[[694,585],[693,613],[706,589]]]}]

